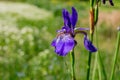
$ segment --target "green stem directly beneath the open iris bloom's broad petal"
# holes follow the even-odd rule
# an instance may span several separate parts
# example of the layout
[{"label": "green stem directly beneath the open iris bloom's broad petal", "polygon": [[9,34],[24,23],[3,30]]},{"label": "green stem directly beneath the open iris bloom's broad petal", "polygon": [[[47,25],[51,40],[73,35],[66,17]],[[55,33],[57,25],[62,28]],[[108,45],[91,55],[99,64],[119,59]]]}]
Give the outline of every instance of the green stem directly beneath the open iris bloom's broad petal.
[{"label": "green stem directly beneath the open iris bloom's broad petal", "polygon": [[72,80],[76,80],[75,78],[75,56],[74,56],[74,49],[70,52],[71,55],[71,75],[72,75]]}]

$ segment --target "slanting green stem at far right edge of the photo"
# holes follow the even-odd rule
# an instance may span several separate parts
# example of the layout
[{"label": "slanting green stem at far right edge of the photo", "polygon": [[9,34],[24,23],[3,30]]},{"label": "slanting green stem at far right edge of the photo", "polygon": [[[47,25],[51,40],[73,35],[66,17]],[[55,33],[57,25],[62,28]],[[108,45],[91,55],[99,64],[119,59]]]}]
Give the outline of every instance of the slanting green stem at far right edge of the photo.
[{"label": "slanting green stem at far right edge of the photo", "polygon": [[119,47],[120,47],[120,30],[118,30],[116,50],[115,50],[115,55],[114,55],[114,58],[113,58],[113,65],[112,65],[112,72],[111,72],[110,80],[113,80],[113,77],[114,77],[115,64],[116,64],[116,61],[117,61]]}]

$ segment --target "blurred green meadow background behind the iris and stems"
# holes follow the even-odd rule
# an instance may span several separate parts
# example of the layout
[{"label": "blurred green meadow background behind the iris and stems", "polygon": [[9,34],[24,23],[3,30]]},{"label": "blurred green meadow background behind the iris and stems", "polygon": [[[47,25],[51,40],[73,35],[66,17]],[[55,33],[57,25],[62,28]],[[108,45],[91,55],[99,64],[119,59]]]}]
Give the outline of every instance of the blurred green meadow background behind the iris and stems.
[{"label": "blurred green meadow background behind the iris and stems", "polygon": [[[120,26],[120,1],[113,2],[114,7],[101,4],[96,26],[108,79]],[[50,44],[63,26],[62,9],[71,11],[71,6],[79,13],[77,27],[89,27],[89,0],[0,0],[0,80],[70,80],[70,55],[57,56]],[[88,52],[83,35],[76,39],[76,78],[85,80]],[[115,80],[120,80],[120,54]]]}]

